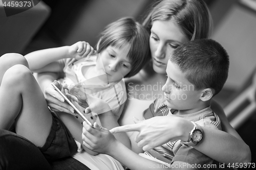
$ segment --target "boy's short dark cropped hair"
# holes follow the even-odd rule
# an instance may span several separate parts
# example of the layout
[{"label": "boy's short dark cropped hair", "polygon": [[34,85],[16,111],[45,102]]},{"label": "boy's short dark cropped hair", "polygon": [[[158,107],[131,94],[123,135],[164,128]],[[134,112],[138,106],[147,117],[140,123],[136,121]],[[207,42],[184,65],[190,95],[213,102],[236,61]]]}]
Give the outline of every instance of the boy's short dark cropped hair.
[{"label": "boy's short dark cropped hair", "polygon": [[186,74],[196,90],[211,88],[218,94],[228,77],[229,56],[223,46],[212,39],[189,41],[177,47],[170,61]]}]

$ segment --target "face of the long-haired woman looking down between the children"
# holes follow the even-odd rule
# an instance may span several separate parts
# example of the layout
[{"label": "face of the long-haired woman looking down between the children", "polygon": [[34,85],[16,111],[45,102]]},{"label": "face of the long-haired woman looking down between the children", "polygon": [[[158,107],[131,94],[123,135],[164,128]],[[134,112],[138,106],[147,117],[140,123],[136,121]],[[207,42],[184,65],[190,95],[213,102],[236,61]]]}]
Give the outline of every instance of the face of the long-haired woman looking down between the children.
[{"label": "face of the long-haired woman looking down between the children", "polygon": [[153,21],[150,35],[153,69],[158,74],[166,74],[170,53],[187,41],[189,40],[175,22]]}]

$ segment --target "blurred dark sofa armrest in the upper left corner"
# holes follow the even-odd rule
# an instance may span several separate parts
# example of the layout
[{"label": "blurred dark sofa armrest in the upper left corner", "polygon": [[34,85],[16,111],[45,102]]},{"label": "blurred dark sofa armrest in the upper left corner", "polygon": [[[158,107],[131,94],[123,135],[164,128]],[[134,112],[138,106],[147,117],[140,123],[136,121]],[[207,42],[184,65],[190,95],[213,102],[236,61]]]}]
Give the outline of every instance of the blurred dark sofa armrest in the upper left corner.
[{"label": "blurred dark sofa armrest in the upper left corner", "polygon": [[48,18],[50,11],[50,8],[40,1],[27,11],[7,17],[0,1],[0,56],[6,53],[22,53]]}]

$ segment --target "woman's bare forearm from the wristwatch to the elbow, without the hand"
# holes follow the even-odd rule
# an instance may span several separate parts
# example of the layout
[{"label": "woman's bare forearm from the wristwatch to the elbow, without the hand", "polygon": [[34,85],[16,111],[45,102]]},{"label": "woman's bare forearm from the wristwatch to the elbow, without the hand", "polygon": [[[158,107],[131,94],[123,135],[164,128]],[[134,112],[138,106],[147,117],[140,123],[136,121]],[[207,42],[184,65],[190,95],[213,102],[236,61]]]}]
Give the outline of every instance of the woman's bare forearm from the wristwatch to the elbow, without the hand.
[{"label": "woman's bare forearm from the wristwatch to the elbow, without the hand", "polygon": [[249,163],[251,153],[242,140],[224,131],[202,127],[204,137],[194,148],[221,163]]}]

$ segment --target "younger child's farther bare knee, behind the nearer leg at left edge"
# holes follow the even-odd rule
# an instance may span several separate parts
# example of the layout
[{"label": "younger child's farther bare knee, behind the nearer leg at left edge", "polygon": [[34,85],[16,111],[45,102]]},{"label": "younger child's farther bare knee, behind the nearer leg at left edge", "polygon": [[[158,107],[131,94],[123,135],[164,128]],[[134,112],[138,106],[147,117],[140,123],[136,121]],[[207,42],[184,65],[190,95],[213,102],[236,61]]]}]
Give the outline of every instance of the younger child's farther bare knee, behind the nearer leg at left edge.
[{"label": "younger child's farther bare knee, behind the nearer leg at left edge", "polygon": [[16,64],[22,64],[29,68],[28,61],[21,54],[7,53],[0,57],[1,67],[5,67],[6,69],[8,69]]}]

